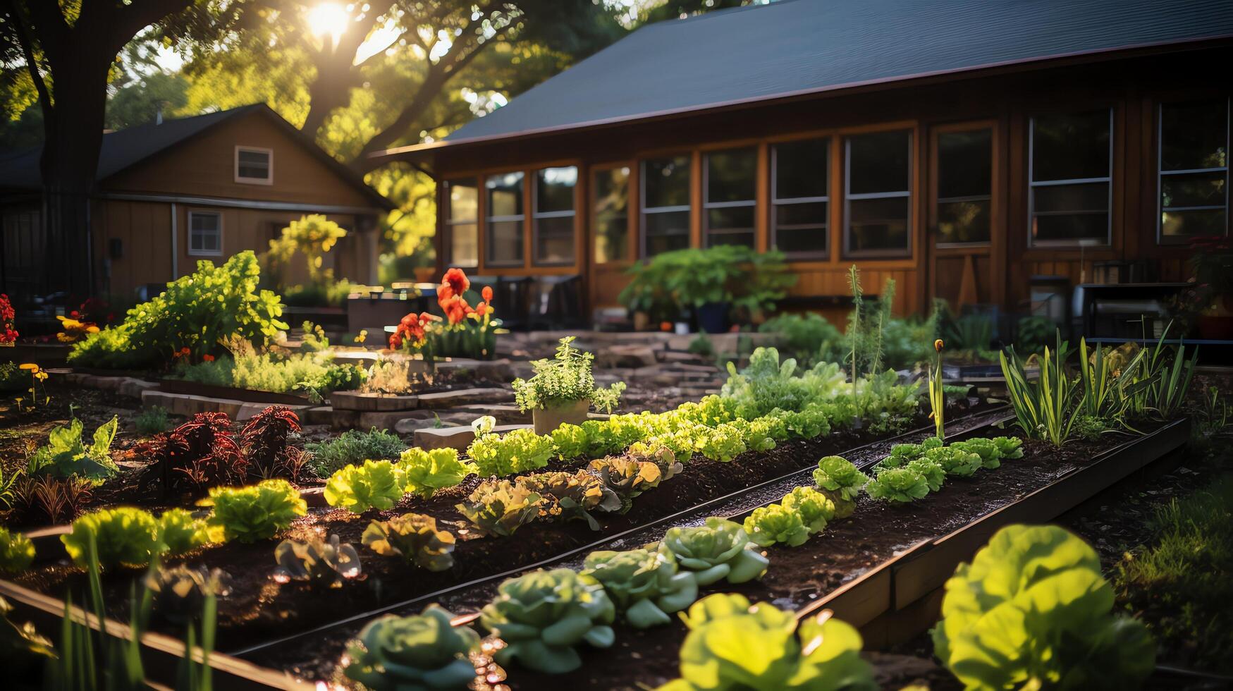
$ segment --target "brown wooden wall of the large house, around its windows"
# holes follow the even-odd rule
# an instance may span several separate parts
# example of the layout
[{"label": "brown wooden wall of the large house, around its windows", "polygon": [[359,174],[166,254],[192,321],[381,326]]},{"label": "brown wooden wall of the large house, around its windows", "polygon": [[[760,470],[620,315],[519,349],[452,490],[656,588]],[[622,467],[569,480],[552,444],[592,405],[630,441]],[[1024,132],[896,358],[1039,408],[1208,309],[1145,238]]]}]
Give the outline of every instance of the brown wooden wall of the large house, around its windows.
[{"label": "brown wooden wall of the large house, around its windows", "polygon": [[[1185,247],[1157,242],[1158,175],[1157,126],[1161,101],[1231,95],[1227,80],[1218,79],[1215,65],[1231,64],[1227,44],[1184,52],[1141,56],[1118,60],[1076,62],[1049,69],[1018,68],[996,77],[954,79],[940,77],[928,83],[900,88],[869,88],[842,96],[798,97],[790,101],[750,105],[705,115],[665,117],[653,122],[613,125],[588,131],[522,137],[501,142],[443,147],[433,154],[439,179],[524,170],[531,180],[535,169],[547,165],[578,165],[576,237],[580,248],[575,262],[551,269],[533,267],[494,268],[483,262],[483,195],[481,189],[481,260],[476,268],[487,275],[536,273],[580,273],[587,283],[591,306],[616,304],[625,285],[623,270],[637,260],[639,230],[637,162],[662,153],[692,157],[690,239],[702,242],[702,157],[718,148],[757,147],[757,233],[756,247],[769,246],[768,149],[780,141],[806,137],[831,138],[830,247],[825,259],[793,260],[799,275],[794,295],[847,295],[845,273],[857,264],[868,292],[880,290],[887,278],[899,286],[896,312],[921,313],[937,296],[952,304],[1000,305],[1012,312],[1027,308],[1028,280],[1036,274],[1063,275],[1071,285],[1091,279],[1092,264],[1111,259],[1148,259],[1159,268],[1161,280],[1186,278]],[[1112,110],[1112,204],[1111,239],[1100,247],[1032,247],[1028,243],[1028,123],[1034,115],[1079,111],[1091,107]],[[931,142],[947,128],[988,126],[994,134],[994,190],[991,239],[986,246],[937,247],[936,218],[931,192],[936,184]],[[888,259],[852,259],[842,247],[843,169],[842,143],[848,134],[870,130],[904,128],[912,132],[911,163],[911,252]],[[630,165],[631,242],[620,262],[596,264],[589,212],[591,180],[597,169]],[[525,206],[529,211],[530,194]],[[448,205],[439,199],[438,209]],[[439,226],[439,230],[443,230]],[[439,243],[444,244],[444,233]],[[524,237],[529,242],[528,213]],[[443,252],[438,252],[444,258]],[[444,259],[443,259],[444,262]]]}]

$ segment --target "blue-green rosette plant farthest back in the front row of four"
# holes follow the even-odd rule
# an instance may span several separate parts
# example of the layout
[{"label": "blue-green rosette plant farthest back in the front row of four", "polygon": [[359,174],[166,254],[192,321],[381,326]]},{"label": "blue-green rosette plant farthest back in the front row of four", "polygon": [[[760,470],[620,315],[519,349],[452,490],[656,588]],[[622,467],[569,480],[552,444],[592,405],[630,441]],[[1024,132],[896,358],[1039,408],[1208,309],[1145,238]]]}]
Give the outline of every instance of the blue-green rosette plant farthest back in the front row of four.
[{"label": "blue-green rosette plant farthest back in the front row of four", "polygon": [[698,585],[720,579],[742,584],[761,577],[771,563],[740,523],[711,516],[703,526],[672,527],[660,540],[677,565],[694,573]]}]

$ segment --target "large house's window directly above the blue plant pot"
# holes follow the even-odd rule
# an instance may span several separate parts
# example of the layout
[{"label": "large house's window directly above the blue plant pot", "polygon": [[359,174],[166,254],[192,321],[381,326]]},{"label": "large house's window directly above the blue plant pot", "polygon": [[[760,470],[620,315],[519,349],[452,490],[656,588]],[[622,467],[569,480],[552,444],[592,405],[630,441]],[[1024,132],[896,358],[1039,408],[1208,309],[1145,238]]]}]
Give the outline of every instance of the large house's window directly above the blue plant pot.
[{"label": "large house's window directly above the blue plant pot", "polygon": [[731,149],[707,154],[705,244],[753,247],[753,215],[757,207],[758,153]]}]

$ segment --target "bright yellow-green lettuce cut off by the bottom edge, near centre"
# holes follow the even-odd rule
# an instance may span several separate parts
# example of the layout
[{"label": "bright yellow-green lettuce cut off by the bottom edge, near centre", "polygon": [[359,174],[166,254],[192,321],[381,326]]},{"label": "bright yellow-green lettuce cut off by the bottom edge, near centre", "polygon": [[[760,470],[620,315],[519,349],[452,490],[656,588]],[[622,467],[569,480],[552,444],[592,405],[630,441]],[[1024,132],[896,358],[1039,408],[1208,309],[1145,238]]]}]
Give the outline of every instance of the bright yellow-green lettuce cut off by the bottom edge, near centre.
[{"label": "bright yellow-green lettuce cut off by the bottom edge, near centre", "polygon": [[660,691],[873,691],[861,634],[825,613],[799,626],[792,612],[742,595],[716,594],[682,616],[681,679]]}]

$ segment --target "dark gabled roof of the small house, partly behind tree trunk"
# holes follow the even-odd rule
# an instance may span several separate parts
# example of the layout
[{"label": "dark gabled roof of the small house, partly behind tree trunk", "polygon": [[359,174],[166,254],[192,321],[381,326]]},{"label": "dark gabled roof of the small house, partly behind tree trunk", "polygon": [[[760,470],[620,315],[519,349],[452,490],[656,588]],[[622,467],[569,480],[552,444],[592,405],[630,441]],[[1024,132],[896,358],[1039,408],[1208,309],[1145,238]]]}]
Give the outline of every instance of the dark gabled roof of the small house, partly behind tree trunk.
[{"label": "dark gabled roof of the small house, partly behind tree trunk", "polygon": [[[99,172],[96,180],[105,180],[121,170],[126,170],[150,157],[186,142],[217,125],[236,120],[248,114],[258,114],[269,117],[277,126],[284,128],[289,138],[298,143],[306,151],[316,155],[323,164],[333,170],[343,181],[351,185],[372,201],[379,209],[393,209],[393,204],[385,196],[377,194],[350,168],[343,165],[334,157],[329,155],[314,142],[308,139],[302,132],[296,130],[290,122],[274,112],[265,104],[252,104],[218,112],[208,112],[192,117],[178,120],[164,120],[160,125],[138,125],[102,136],[102,148],[99,152]],[[42,173],[39,170],[39,155],[42,147],[25,151],[0,153],[0,190],[41,190]]]}]

